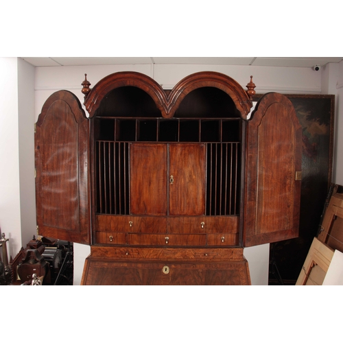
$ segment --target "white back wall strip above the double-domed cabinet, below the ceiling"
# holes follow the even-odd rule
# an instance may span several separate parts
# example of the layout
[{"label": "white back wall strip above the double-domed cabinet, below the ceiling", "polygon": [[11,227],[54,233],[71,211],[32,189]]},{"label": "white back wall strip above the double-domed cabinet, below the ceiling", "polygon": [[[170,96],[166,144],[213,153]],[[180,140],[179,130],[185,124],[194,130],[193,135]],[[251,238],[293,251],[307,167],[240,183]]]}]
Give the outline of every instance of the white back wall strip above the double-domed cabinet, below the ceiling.
[{"label": "white back wall strip above the double-domed cabinet, below the ceiling", "polygon": [[172,87],[185,76],[198,71],[217,71],[225,73],[245,86],[250,75],[256,84],[257,93],[277,91],[279,93],[318,93],[321,92],[321,73],[310,68],[227,66],[217,64],[119,64],[81,67],[36,67],[35,114],[40,110],[49,95],[60,89],[73,92],[81,104],[84,102],[81,83],[84,74],[91,82],[91,88],[99,80],[117,71],[138,71],[148,75],[159,84]]}]

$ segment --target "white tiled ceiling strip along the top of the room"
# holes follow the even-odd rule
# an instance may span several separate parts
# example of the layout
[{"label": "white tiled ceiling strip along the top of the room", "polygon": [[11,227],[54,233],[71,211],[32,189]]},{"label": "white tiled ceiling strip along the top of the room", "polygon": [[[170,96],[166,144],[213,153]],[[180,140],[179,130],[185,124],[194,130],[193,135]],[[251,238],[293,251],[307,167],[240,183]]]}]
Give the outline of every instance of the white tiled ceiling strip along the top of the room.
[{"label": "white tiled ceiling strip along the top of the room", "polygon": [[228,64],[265,67],[321,67],[342,57],[22,57],[34,67],[104,64]]}]

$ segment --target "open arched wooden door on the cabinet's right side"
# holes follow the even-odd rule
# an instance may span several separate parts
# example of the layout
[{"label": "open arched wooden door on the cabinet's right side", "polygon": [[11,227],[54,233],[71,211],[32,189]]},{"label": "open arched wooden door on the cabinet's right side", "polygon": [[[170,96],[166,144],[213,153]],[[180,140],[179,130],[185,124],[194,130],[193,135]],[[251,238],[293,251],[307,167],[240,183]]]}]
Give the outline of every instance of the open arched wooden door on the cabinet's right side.
[{"label": "open arched wooden door on the cabinet's right side", "polygon": [[287,97],[261,97],[246,142],[244,246],[298,237],[302,128]]}]

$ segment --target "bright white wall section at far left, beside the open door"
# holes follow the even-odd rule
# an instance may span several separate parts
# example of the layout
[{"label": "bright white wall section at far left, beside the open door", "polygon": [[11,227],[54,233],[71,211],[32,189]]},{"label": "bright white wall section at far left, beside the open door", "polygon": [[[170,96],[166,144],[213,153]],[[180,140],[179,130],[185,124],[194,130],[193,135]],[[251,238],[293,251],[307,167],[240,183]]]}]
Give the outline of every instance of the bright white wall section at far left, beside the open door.
[{"label": "bright white wall section at far left, beside the open door", "polygon": [[14,258],[36,233],[34,67],[0,58],[0,75],[0,229]]}]

